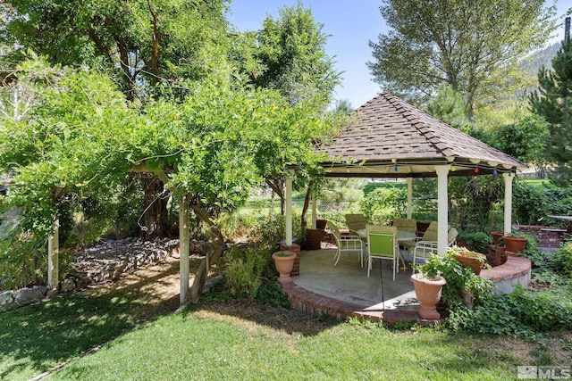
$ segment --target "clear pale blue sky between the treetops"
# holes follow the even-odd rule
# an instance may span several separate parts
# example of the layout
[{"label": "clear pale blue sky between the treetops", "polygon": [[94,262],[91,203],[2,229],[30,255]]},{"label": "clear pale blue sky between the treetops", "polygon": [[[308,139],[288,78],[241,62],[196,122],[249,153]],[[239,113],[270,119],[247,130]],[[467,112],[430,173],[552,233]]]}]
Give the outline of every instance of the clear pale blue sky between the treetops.
[{"label": "clear pale blue sky between the treetops", "polygon": [[[550,3],[550,2],[548,2]],[[228,20],[241,31],[260,29],[266,14],[273,18],[278,10],[295,6],[298,0],[232,0]],[[333,57],[337,70],[343,71],[343,83],[336,87],[336,100],[348,100],[357,108],[372,99],[380,90],[372,81],[366,62],[372,60],[370,40],[377,41],[380,33],[387,32],[387,26],[379,12],[380,0],[306,0],[305,8],[310,8],[315,21],[324,24],[323,32],[330,35],[326,52]],[[558,1],[558,14],[562,15],[569,0]],[[564,18],[554,40],[564,37]]]}]

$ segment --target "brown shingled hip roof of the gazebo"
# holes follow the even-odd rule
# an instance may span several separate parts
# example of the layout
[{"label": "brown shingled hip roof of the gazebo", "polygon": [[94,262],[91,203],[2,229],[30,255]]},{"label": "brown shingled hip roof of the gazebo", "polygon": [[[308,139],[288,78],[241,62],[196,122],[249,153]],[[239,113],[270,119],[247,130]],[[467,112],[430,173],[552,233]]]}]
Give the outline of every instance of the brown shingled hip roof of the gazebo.
[{"label": "brown shingled hip roof of the gazebo", "polygon": [[434,166],[447,164],[454,165],[452,176],[475,175],[475,167],[479,175],[526,168],[523,162],[386,92],[350,117],[340,136],[319,147],[331,158],[322,163],[326,176],[433,177]]}]

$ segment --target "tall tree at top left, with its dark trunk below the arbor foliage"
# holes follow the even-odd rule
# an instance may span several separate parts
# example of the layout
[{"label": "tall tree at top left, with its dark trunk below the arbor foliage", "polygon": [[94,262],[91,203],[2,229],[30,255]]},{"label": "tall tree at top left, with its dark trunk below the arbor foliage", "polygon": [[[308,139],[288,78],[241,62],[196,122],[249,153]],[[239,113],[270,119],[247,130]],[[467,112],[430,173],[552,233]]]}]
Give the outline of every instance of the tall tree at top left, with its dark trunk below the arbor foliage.
[{"label": "tall tree at top left, with its dark trunk below the arbor foliage", "polygon": [[[13,0],[6,44],[48,62],[104,71],[133,104],[186,95],[189,80],[228,77],[226,0]],[[164,182],[144,177],[141,235],[167,236]]]}]

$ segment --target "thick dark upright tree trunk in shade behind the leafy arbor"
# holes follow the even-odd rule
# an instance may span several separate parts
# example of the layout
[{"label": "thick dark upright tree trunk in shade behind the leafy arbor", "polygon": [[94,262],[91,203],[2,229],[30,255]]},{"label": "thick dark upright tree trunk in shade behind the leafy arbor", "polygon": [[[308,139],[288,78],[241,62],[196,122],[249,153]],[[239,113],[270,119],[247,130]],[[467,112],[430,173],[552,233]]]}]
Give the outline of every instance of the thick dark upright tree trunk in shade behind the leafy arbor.
[{"label": "thick dark upright tree trunk in shade behind the leafy arbor", "polygon": [[169,198],[164,192],[164,184],[158,178],[143,178],[145,199],[143,212],[143,228],[141,236],[145,239],[170,236],[167,222],[167,202]]}]

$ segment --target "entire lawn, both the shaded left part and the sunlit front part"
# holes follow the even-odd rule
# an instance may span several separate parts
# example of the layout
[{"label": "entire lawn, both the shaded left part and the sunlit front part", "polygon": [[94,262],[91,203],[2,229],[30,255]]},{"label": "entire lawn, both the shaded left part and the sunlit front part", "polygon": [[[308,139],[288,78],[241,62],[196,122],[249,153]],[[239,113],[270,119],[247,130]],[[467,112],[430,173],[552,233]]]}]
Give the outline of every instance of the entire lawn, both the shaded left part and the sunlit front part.
[{"label": "entire lawn, both the shaded left part and the sunlit front part", "polygon": [[388,330],[256,305],[206,302],[146,319],[150,299],[140,291],[75,294],[0,315],[0,378],[63,363],[49,379],[505,380],[534,351],[543,363],[551,356],[507,337]]}]

